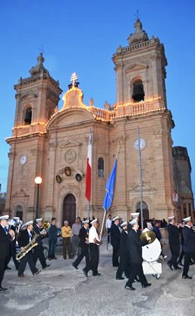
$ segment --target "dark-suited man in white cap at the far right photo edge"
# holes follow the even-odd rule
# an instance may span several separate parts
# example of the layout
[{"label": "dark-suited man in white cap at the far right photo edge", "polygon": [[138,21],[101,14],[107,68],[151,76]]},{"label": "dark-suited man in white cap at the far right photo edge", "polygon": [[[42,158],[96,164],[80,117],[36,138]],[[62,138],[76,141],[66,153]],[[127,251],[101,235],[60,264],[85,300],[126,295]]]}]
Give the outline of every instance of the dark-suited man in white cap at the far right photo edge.
[{"label": "dark-suited man in white cap at the far right photo edge", "polygon": [[192,229],[193,223],[191,216],[183,219],[183,221],[185,224],[182,229],[182,235],[184,238],[183,249],[185,252],[185,257],[182,278],[192,278],[192,276],[188,276],[188,271],[190,259],[195,262],[195,232]]}]

